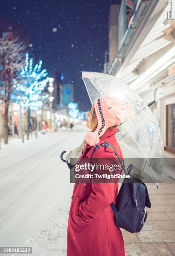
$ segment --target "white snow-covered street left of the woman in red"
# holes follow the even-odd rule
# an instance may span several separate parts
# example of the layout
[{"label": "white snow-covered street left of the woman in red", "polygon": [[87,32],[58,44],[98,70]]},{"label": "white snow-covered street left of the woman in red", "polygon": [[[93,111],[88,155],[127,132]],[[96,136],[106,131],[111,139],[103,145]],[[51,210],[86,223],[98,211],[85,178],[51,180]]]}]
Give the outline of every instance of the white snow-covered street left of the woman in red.
[{"label": "white snow-covered street left of the woman in red", "polygon": [[[0,246],[32,247],[35,256],[66,255],[74,184],[60,159],[79,146],[87,129],[38,134],[0,149]],[[12,254],[14,255],[14,254]],[[25,255],[25,254],[20,254]]]}]

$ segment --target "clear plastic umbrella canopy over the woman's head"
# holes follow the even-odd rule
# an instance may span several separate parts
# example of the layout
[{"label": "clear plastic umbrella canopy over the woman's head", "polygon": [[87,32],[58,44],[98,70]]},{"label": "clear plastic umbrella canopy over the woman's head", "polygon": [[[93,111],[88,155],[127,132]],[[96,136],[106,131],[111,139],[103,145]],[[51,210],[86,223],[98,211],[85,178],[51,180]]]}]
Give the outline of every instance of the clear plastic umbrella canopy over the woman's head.
[{"label": "clear plastic umbrella canopy over the woman's head", "polygon": [[[121,79],[103,73],[82,72],[91,103],[94,100],[111,96],[132,108],[132,117],[124,120],[118,113],[119,105],[111,106],[122,121],[117,140],[122,148],[124,159],[135,159],[136,177],[145,182],[160,182],[163,166],[163,143],[160,126],[147,103]],[[129,160],[130,161],[130,160]]]}]

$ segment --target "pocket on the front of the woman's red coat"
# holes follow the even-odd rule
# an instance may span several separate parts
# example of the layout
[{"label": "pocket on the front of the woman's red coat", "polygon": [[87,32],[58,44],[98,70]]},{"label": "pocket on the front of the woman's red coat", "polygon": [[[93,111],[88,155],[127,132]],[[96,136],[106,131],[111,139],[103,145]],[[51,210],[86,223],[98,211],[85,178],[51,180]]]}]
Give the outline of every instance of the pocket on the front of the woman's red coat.
[{"label": "pocket on the front of the woman's red coat", "polygon": [[86,223],[81,219],[81,217],[77,214],[77,210],[79,207],[80,197],[74,196],[71,208],[71,217],[76,226],[84,227]]}]

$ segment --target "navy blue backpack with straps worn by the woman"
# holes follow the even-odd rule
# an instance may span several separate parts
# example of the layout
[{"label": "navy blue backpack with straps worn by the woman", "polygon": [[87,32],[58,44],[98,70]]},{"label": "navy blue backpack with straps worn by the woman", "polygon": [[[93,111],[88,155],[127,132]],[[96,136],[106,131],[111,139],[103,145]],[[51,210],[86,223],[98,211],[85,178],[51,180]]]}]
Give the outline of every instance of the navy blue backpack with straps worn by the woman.
[{"label": "navy blue backpack with straps worn by the woman", "polygon": [[[109,142],[97,144],[92,152],[92,156],[96,149],[101,146],[113,148],[125,174],[129,175],[134,166],[130,164],[126,172],[124,162],[122,164],[117,151]],[[123,228],[130,233],[138,233],[147,219],[145,206],[150,208],[151,202],[145,183],[139,179],[134,179],[132,176],[130,176],[129,181],[130,183],[126,183],[128,179],[124,179],[117,195],[116,205],[112,202],[110,206],[115,214],[115,225],[117,227]]]}]

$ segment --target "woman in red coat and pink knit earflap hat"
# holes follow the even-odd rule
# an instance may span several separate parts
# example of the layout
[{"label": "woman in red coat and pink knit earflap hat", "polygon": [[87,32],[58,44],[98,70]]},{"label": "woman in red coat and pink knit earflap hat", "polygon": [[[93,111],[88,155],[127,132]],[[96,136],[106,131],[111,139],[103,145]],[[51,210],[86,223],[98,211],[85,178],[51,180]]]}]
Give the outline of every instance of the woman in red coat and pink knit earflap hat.
[{"label": "woman in red coat and pink knit earflap hat", "polygon": [[[86,126],[91,129],[83,143],[81,158],[91,158],[97,143],[110,142],[122,158],[115,133],[121,120],[111,106],[119,105],[117,99],[102,97],[94,101],[87,114]],[[121,109],[120,109],[121,110]],[[123,111],[124,110],[124,111]],[[122,106],[129,115],[127,106]],[[117,158],[109,147],[98,148],[93,158]],[[69,210],[67,229],[67,256],[124,256],[124,240],[110,203],[116,201],[118,183],[75,183]]]}]

